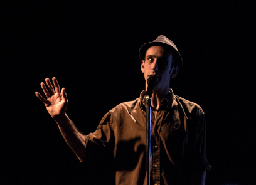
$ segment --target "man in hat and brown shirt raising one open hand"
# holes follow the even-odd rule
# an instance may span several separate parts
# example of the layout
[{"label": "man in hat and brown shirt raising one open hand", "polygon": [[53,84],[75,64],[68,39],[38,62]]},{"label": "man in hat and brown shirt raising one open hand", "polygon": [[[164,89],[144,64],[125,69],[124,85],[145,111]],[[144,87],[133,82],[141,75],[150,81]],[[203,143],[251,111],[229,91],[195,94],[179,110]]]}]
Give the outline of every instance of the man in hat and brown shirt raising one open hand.
[{"label": "man in hat and brown shirt raising one open hand", "polygon": [[[116,184],[146,184],[147,78],[156,75],[151,98],[151,184],[205,184],[210,166],[205,157],[205,114],[199,105],[173,94],[170,79],[178,75],[181,55],[174,43],[161,35],[139,50],[145,90],[134,101],[110,110],[97,130],[88,135],[78,132],[68,118],[65,88],[46,78],[36,96],[56,120],[61,134],[80,161],[92,159],[93,152],[112,156]],[[99,151],[99,152],[98,152]],[[97,160],[97,159],[96,159]]]}]

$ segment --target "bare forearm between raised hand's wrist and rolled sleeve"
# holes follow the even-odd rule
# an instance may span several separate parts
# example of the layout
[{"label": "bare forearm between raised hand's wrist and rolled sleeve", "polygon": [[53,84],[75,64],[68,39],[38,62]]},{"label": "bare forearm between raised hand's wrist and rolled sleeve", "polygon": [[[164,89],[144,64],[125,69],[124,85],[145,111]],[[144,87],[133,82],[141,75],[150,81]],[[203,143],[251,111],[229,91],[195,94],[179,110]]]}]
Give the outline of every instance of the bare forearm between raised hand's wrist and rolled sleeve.
[{"label": "bare forearm between raised hand's wrist and rolled sleeve", "polygon": [[85,157],[85,137],[67,115],[56,119],[61,135],[80,161]]}]

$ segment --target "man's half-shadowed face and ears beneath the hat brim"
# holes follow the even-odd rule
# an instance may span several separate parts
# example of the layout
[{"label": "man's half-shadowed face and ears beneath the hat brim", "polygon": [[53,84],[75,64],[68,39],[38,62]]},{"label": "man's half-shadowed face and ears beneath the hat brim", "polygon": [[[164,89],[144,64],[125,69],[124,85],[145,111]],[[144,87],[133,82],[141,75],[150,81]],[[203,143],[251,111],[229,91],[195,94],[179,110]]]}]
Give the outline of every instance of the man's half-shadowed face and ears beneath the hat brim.
[{"label": "man's half-shadowed face and ears beneath the hat brim", "polygon": [[147,78],[150,75],[156,75],[154,89],[167,89],[169,92],[170,78],[174,78],[178,73],[178,71],[174,71],[178,70],[178,68],[171,69],[172,58],[172,54],[161,46],[152,46],[147,50],[145,60],[142,60],[141,63],[141,71],[144,73],[146,80],[146,89]]}]

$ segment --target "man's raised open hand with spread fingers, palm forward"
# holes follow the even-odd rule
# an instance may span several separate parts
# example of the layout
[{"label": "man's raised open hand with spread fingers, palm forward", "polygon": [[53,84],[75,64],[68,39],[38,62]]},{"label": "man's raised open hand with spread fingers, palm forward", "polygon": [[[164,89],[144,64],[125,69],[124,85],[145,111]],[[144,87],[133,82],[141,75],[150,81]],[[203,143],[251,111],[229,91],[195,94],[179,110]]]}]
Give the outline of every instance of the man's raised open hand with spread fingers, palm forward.
[{"label": "man's raised open hand with spread fingers, palm forward", "polygon": [[62,88],[60,92],[60,86],[58,85],[58,81],[55,77],[53,77],[54,88],[51,85],[51,81],[49,78],[45,79],[45,82],[48,86],[48,89],[45,87],[45,83],[41,83],[41,88],[45,93],[47,99],[42,97],[39,92],[36,92],[36,96],[45,104],[45,107],[48,110],[48,113],[55,120],[65,116],[67,106],[68,106],[68,98],[65,92],[65,88]]}]

